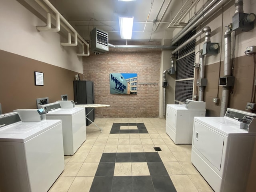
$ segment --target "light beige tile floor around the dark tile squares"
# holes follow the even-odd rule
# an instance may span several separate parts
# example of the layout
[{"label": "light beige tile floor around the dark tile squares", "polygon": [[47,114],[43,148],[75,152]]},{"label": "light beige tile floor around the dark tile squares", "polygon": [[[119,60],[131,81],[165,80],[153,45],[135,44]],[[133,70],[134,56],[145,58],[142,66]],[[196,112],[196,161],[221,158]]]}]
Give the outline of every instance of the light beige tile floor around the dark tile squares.
[{"label": "light beige tile floor around the dark tile squares", "polygon": [[[102,153],[158,152],[177,192],[213,192],[190,162],[191,145],[175,145],[159,118],[98,118],[86,127],[86,141],[73,156],[64,156],[65,169],[49,192],[89,192]],[[144,123],[148,134],[109,134],[113,123]],[[127,128],[128,127],[128,128]],[[122,129],[136,129],[134,126]],[[115,176],[150,175],[146,163],[116,163]]]}]

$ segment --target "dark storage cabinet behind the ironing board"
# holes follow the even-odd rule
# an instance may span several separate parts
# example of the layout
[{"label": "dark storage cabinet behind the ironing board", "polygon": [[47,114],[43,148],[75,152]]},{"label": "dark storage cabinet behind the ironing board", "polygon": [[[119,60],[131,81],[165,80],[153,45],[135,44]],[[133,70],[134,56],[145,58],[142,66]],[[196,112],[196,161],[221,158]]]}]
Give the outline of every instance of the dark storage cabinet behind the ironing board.
[{"label": "dark storage cabinet behind the ironing board", "polygon": [[[74,81],[74,102],[76,104],[94,104],[94,85],[92,81]],[[92,112],[90,112],[92,110]],[[87,118],[92,122],[95,119],[94,108],[86,108]],[[91,122],[86,119],[86,125],[90,125]]]}]

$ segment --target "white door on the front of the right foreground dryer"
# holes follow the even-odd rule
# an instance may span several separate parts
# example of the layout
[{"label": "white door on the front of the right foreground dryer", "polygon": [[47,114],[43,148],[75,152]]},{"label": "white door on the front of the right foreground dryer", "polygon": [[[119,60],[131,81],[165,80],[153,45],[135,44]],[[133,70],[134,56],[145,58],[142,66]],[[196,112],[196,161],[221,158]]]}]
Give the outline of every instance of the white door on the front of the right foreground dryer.
[{"label": "white door on the front of the right foreground dryer", "polygon": [[194,122],[193,147],[220,170],[224,137],[200,122]]}]

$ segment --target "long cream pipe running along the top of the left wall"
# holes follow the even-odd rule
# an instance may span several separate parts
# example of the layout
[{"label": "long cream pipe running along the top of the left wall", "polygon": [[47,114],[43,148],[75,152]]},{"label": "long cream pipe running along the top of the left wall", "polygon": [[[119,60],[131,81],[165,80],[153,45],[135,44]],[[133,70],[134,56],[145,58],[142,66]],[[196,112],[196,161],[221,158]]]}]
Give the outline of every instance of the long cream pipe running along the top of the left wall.
[{"label": "long cream pipe running along the top of the left wall", "polygon": [[[78,56],[89,56],[90,55],[90,47],[89,47],[89,44],[76,32],[76,30],[68,23],[68,21],[60,14],[60,12],[58,12],[58,10],[49,2],[49,0],[43,0],[44,3],[49,7],[46,7],[40,0],[35,0],[37,2],[38,5],[40,5],[46,12],[50,12],[49,8],[57,15],[60,16],[60,19],[64,22],[64,24],[62,24],[60,22],[60,25],[68,32],[70,33],[70,30],[72,32],[74,32],[74,38],[79,38],[77,41],[82,45],[84,46],[84,44],[86,45],[87,47],[87,54],[81,54],[81,53],[78,53],[79,55]],[[52,17],[56,20],[56,17],[54,15],[52,15]],[[77,35],[77,37],[76,37]],[[71,36],[70,36],[71,38]]]}]

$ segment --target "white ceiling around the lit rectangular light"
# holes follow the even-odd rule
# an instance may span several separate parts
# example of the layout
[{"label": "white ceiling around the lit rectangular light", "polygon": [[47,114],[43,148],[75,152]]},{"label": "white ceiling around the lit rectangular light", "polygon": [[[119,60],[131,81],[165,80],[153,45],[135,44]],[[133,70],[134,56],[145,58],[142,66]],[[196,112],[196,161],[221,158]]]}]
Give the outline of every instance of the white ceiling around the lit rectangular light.
[{"label": "white ceiling around the lit rectangular light", "polygon": [[192,0],[49,1],[85,40],[90,40],[90,31],[94,27],[108,32],[109,40],[121,40],[118,16],[134,16],[132,40],[147,41],[172,38],[172,31],[175,28],[168,28],[171,17],[173,18],[180,10],[182,4],[192,2]]}]

